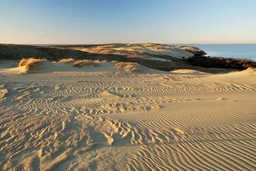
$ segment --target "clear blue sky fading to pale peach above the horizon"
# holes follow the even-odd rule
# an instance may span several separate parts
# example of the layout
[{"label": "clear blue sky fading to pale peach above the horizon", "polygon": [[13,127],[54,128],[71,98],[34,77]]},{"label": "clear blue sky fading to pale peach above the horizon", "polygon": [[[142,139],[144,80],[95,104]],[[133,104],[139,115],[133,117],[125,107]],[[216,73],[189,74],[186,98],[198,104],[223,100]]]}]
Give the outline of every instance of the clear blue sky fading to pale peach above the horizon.
[{"label": "clear blue sky fading to pale peach above the horizon", "polygon": [[256,43],[256,0],[0,0],[0,43]]}]

